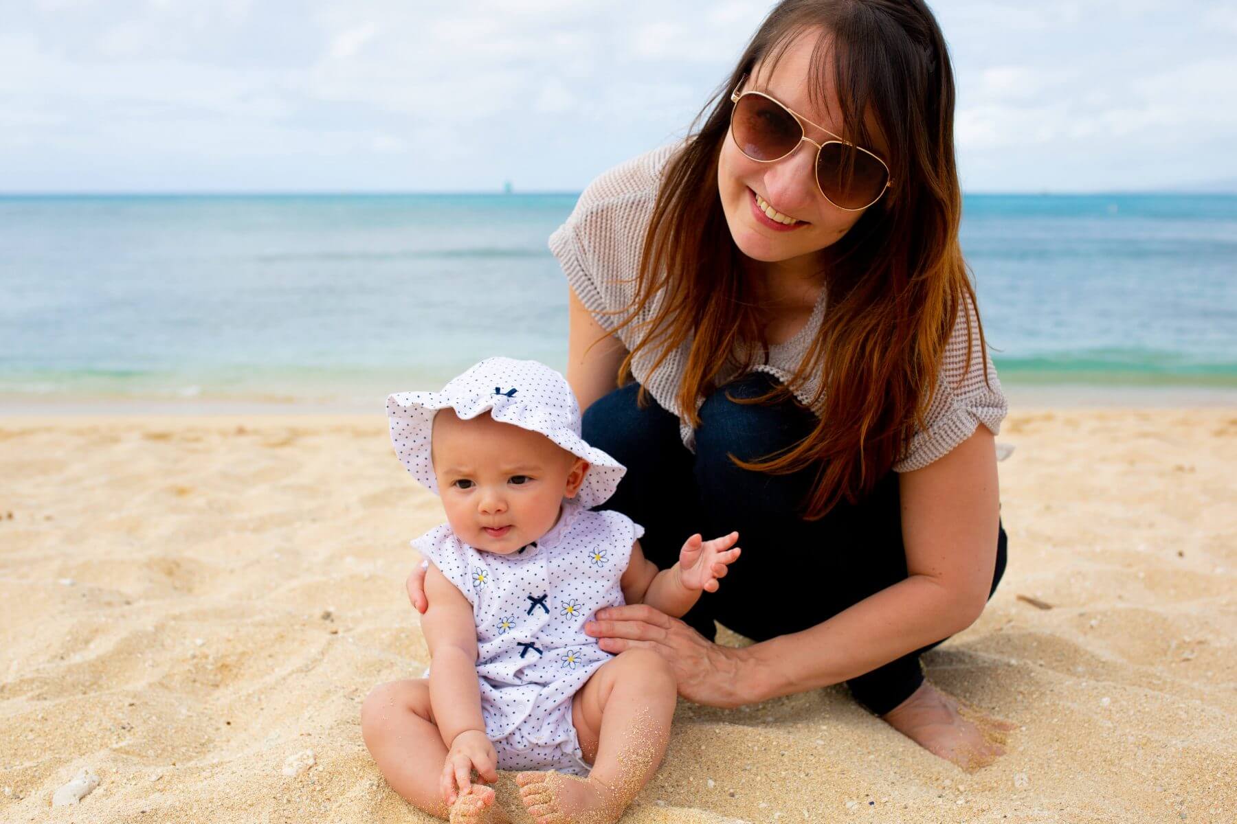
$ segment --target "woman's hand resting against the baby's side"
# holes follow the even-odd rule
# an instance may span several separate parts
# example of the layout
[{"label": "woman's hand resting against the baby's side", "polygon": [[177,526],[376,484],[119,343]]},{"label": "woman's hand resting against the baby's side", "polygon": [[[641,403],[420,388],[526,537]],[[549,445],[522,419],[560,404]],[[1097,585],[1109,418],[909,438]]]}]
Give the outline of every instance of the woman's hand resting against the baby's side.
[{"label": "woman's hand resting against the baby's side", "polygon": [[742,650],[719,646],[677,618],[647,604],[606,607],[585,634],[615,655],[638,647],[653,650],[669,662],[679,694],[709,707],[740,707],[761,700]]}]

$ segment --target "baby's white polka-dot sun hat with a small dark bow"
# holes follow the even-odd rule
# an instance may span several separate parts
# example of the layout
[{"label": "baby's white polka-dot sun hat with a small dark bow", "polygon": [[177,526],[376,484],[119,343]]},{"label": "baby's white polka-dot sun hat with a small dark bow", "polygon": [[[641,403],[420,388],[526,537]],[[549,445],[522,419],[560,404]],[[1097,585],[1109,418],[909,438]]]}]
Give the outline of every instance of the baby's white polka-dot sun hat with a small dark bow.
[{"label": "baby's white polka-dot sun hat with a small dark bow", "polygon": [[541,432],[590,467],[575,500],[596,507],[615,493],[627,467],[580,437],[580,404],[567,379],[537,361],[491,357],[453,378],[442,392],[400,392],[387,398],[391,442],[400,462],[435,495],[429,460],[434,413],[450,406],[461,420],[489,411],[494,420]]}]

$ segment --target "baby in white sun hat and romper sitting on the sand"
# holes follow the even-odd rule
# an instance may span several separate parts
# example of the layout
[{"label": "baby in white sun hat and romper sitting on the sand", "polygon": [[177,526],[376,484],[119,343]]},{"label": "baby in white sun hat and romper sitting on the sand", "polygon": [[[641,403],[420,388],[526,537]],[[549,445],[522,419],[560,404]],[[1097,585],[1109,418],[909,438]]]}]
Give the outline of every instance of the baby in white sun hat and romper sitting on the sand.
[{"label": "baby in white sun hat and romper sitting on the sand", "polygon": [[683,615],[717,589],[738,534],[693,535],[658,572],[641,526],[590,510],[625,468],[584,442],[570,387],[536,361],[481,361],[440,393],[391,395],[387,414],[447,523],[412,542],[433,562],[432,671],[370,693],[365,745],[400,796],[452,822],[508,820],[473,781],[497,768],[520,771],[539,824],[617,820],[666,754],[677,686],[658,654],[611,656],[584,625],[623,603]]}]

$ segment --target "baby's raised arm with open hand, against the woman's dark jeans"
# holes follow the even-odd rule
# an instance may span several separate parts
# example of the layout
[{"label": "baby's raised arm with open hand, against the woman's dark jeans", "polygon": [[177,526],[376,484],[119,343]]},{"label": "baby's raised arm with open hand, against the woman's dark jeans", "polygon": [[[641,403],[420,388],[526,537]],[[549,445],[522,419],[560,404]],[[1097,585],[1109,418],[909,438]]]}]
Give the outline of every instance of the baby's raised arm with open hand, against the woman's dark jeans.
[{"label": "baby's raised arm with open hand, against the woman's dark jeans", "polygon": [[693,535],[679,550],[678,563],[661,572],[636,541],[631,546],[631,562],[620,581],[623,599],[628,604],[648,604],[672,618],[687,614],[701,592],[717,592],[717,579],[726,576],[729,566],[738,557],[737,540],[738,532],[711,541]]}]

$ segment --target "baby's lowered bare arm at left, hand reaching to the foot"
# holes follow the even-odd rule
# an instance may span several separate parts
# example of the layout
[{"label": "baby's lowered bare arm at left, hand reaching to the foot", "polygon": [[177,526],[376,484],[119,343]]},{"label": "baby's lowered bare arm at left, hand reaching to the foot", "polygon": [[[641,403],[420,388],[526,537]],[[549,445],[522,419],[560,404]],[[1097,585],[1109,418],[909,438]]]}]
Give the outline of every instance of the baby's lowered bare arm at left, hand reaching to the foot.
[{"label": "baby's lowered bare arm at left, hand reaching to the foot", "polygon": [[433,666],[429,707],[447,745],[442,787],[452,804],[473,781],[473,767],[485,781],[497,781],[497,754],[485,734],[481,689],[476,677],[476,621],[473,605],[437,567],[426,574],[429,608],[421,619]]}]

